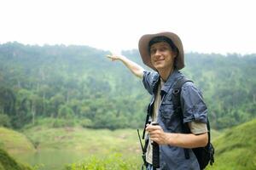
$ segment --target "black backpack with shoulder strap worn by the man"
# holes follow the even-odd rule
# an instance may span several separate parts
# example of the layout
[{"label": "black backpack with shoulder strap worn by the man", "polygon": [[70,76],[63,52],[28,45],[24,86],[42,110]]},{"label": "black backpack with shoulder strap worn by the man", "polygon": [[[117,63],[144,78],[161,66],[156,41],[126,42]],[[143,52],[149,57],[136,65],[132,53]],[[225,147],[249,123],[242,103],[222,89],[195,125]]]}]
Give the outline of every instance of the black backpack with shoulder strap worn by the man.
[{"label": "black backpack with shoulder strap worn by the man", "polygon": [[[179,114],[181,117],[181,122],[183,125],[183,133],[190,133],[189,126],[187,124],[183,123],[183,113],[182,113],[182,108],[180,104],[180,93],[181,93],[181,88],[183,87],[183,84],[185,82],[192,82],[186,77],[183,77],[179,80],[174,85],[173,91],[172,91],[172,101],[173,101],[173,110],[175,113]],[[214,162],[214,147],[211,144],[211,133],[210,133],[210,123],[207,118],[207,129],[208,129],[208,143],[205,147],[200,147],[200,148],[194,148],[192,149],[197,161],[199,162],[200,169],[204,169],[207,167],[208,163],[210,162],[210,165],[212,166],[212,163]],[[184,156],[186,159],[189,159],[189,149],[184,149]]]}]

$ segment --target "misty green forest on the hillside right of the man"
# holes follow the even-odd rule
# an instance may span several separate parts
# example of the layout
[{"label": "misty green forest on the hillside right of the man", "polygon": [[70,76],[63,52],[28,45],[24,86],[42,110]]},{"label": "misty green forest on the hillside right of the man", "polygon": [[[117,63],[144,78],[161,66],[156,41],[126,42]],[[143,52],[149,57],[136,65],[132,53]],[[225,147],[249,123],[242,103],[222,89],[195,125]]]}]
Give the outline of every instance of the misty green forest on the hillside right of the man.
[{"label": "misty green forest on the hillside right of the man", "polygon": [[189,54],[187,75],[202,89],[212,127],[222,129],[255,118],[255,54]]}]

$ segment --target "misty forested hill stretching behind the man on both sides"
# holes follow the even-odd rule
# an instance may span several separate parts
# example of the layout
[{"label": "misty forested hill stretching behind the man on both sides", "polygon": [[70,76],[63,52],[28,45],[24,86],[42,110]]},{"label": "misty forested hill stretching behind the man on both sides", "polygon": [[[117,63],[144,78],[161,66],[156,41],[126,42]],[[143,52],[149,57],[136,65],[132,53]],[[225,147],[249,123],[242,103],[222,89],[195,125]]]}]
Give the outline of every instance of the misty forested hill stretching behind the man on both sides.
[{"label": "misty forested hill stretching behind the man on both sides", "polygon": [[[68,126],[143,127],[149,94],[106,54],[87,46],[1,44],[0,125],[52,117]],[[123,54],[143,65],[137,50]],[[185,60],[182,72],[201,88],[213,128],[256,117],[256,54],[189,53]]]}]

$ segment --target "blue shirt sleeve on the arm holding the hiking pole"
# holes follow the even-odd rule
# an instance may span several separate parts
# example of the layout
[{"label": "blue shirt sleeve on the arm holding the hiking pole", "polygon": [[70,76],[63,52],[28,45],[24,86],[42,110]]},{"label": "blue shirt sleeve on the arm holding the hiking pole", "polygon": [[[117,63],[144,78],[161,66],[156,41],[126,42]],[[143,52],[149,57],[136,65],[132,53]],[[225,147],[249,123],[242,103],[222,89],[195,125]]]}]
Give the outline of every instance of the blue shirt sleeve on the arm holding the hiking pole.
[{"label": "blue shirt sleeve on the arm holding the hiking pole", "polygon": [[201,91],[193,82],[186,82],[181,91],[183,122],[207,123],[207,105],[203,101]]}]

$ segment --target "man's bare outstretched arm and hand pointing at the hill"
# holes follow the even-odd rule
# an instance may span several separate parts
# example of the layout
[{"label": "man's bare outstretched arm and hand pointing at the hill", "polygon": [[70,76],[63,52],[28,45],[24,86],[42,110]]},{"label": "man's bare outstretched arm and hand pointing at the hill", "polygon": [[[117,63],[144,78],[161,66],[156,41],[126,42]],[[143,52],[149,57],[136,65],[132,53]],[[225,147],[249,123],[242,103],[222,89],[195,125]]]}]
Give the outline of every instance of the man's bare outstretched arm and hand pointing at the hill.
[{"label": "man's bare outstretched arm and hand pointing at the hill", "polygon": [[130,59],[127,59],[124,55],[107,55],[109,59],[112,59],[112,61],[120,60],[123,62],[123,64],[137,77],[143,78],[143,67],[141,65],[138,65],[137,63],[131,61]]}]

